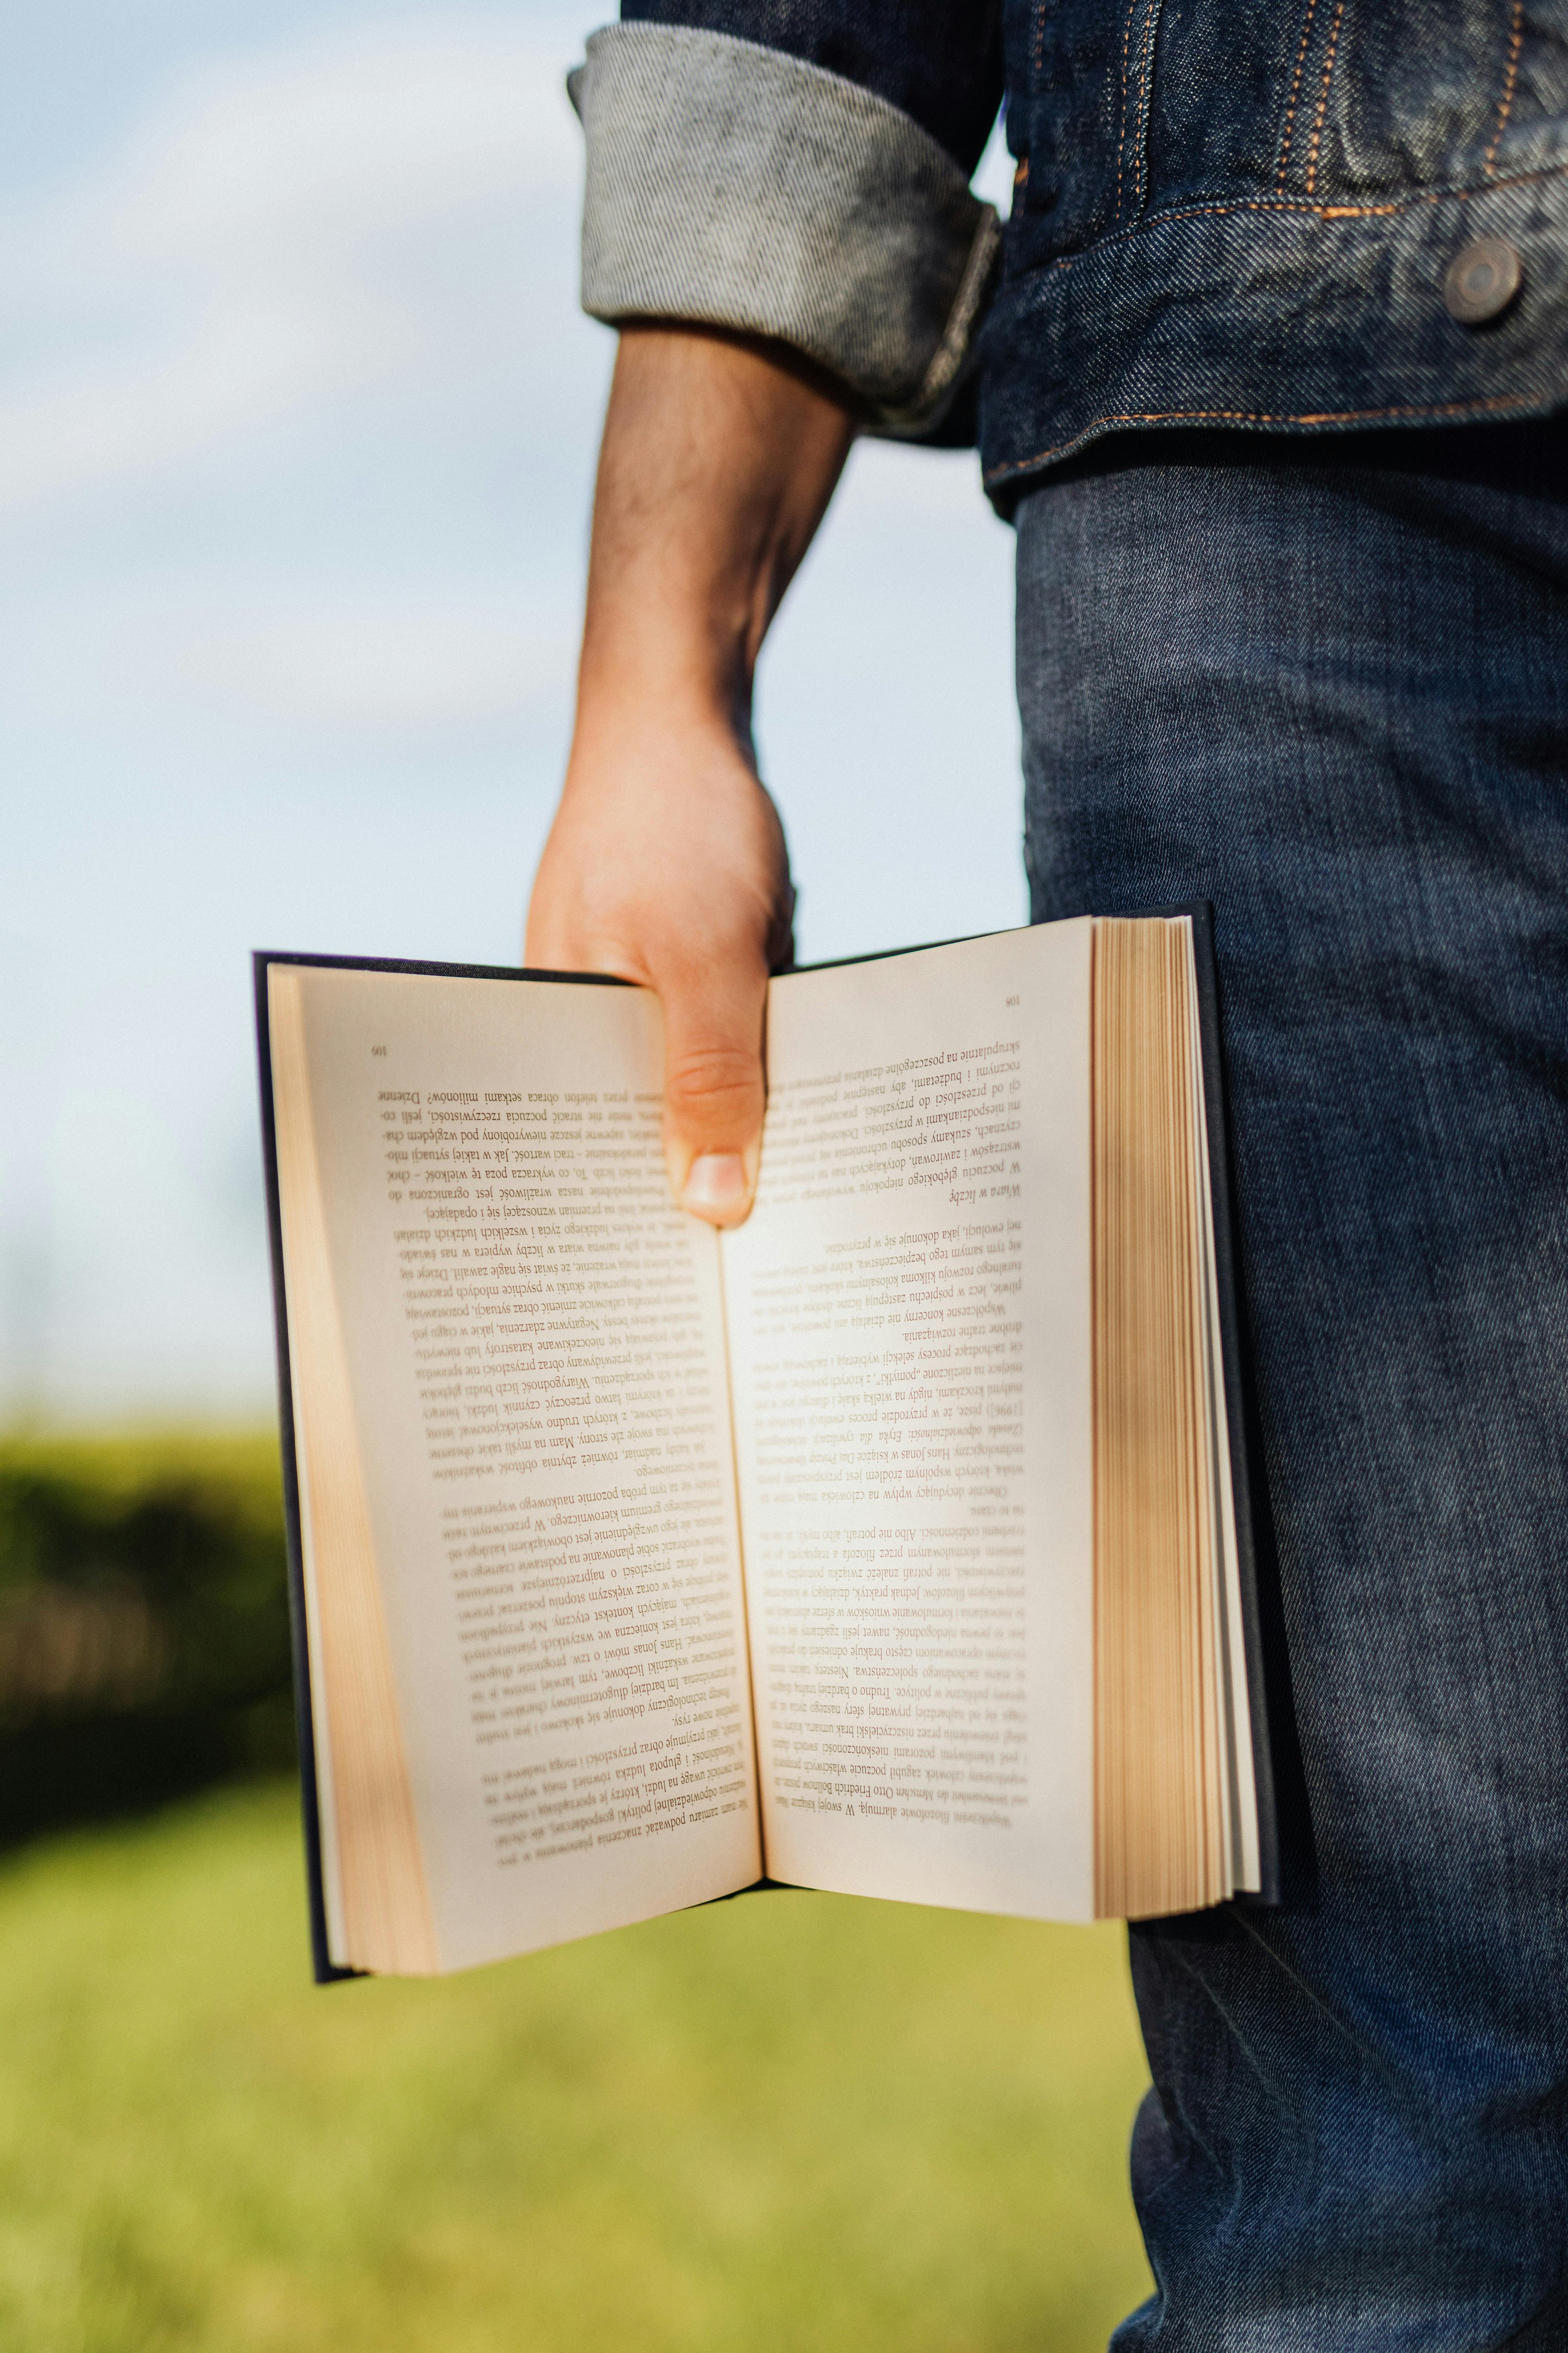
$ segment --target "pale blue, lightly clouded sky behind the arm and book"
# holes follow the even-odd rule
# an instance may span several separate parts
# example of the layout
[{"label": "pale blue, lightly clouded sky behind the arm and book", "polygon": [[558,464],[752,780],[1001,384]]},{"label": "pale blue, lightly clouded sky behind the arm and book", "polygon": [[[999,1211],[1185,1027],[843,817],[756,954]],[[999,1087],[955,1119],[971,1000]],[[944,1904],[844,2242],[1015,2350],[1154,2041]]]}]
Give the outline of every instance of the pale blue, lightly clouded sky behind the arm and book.
[{"label": "pale blue, lightly clouded sky behind the arm and book", "polygon": [[[597,21],[7,26],[0,1414],[270,1409],[252,946],[520,953],[611,360]],[[860,447],[759,685],[802,955],[1020,920],[1009,640],[973,456]]]}]

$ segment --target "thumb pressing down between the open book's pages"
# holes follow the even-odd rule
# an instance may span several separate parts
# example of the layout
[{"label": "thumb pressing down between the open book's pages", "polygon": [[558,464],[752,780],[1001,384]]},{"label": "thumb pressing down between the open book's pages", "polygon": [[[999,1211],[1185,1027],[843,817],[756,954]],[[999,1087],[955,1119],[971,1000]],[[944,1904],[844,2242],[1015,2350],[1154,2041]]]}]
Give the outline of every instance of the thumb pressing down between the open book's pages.
[{"label": "thumb pressing down between the open book's pages", "polygon": [[757,1191],[766,988],[762,962],[661,984],[670,1191],[710,1226],[741,1226]]}]

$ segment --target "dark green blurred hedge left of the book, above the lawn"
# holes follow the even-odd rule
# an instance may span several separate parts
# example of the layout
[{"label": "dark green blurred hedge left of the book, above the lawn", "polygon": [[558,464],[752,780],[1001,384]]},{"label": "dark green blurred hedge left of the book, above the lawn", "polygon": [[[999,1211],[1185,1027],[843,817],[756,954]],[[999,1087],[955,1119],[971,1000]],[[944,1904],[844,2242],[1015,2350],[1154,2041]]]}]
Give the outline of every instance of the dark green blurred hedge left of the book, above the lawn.
[{"label": "dark green blurred hedge left of the book, above the lawn", "polygon": [[0,1840],[294,1762],[273,1438],[0,1438]]}]

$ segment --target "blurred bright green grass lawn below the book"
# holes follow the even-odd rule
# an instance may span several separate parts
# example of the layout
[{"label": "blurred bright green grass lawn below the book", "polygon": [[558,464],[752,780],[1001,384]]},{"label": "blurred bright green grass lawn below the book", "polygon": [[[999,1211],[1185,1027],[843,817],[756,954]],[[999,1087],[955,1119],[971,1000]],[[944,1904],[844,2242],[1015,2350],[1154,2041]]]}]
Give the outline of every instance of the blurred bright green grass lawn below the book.
[{"label": "blurred bright green grass lawn below the book", "polygon": [[1077,2353],[1140,2087],[1117,1929],[842,1897],[317,1993],[230,1791],[0,1866],[0,2346]]}]

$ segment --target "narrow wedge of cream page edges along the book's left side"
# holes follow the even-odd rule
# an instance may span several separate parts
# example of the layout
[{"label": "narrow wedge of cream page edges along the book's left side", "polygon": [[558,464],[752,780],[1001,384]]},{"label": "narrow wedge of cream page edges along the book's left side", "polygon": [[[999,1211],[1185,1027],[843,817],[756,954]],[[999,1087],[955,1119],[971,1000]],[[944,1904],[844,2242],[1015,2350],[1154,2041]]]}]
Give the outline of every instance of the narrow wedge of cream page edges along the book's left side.
[{"label": "narrow wedge of cream page edges along the book's left side", "polygon": [[303,988],[287,965],[268,967],[268,1035],[331,1960],[428,1977],[442,1960],[331,1280]]}]

